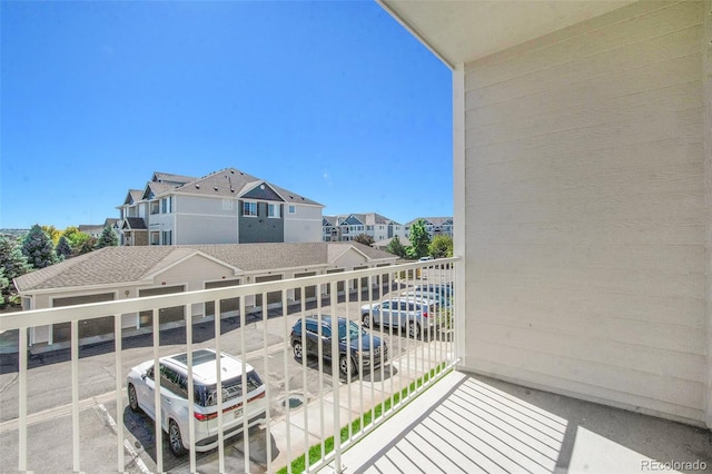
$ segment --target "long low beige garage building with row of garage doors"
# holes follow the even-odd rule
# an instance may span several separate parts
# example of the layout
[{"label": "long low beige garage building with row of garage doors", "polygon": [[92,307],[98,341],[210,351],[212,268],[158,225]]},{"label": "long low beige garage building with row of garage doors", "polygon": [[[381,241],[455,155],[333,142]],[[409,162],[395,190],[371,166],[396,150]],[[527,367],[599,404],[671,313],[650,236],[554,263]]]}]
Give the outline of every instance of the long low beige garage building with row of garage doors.
[{"label": "long low beige garage building with row of garage doors", "polygon": [[[332,273],[390,266],[396,257],[358,243],[222,244],[191,246],[105,247],[14,279],[24,310],[71,306],[117,299],[167,295],[301,278]],[[352,288],[355,285],[350,283]],[[328,288],[324,287],[328,293]],[[339,286],[339,292],[345,289]],[[299,300],[299,289],[288,293]],[[315,288],[306,296],[315,297]],[[267,304],[279,295],[267,297]],[[261,306],[259,295],[248,307]],[[236,310],[236,302],[222,304],[222,312]],[[191,316],[215,313],[214,306],[192,305]],[[182,322],[185,308],[161,309],[161,324]],[[122,315],[122,328],[150,328],[150,315]],[[32,328],[30,344],[58,344],[70,338],[67,324]],[[80,337],[101,339],[113,329],[113,318],[85,322]],[[93,340],[92,339],[92,340]]]}]

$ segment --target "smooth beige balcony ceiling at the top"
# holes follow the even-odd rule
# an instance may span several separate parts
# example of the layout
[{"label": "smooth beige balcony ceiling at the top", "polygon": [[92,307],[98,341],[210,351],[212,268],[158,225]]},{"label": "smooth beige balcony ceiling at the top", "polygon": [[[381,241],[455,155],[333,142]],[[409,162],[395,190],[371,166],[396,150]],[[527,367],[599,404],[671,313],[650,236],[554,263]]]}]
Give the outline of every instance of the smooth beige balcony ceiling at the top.
[{"label": "smooth beige balcony ceiling at the top", "polygon": [[615,10],[629,0],[377,0],[453,67]]}]

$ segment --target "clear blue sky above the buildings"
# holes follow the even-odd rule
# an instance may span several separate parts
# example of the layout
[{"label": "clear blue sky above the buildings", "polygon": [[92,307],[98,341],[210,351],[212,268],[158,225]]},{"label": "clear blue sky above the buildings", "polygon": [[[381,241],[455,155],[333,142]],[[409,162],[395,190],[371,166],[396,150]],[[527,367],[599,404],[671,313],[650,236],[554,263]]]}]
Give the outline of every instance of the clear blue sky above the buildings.
[{"label": "clear blue sky above the buildings", "polygon": [[0,9],[0,228],[228,167],[325,215],[453,214],[451,71],[374,1]]}]

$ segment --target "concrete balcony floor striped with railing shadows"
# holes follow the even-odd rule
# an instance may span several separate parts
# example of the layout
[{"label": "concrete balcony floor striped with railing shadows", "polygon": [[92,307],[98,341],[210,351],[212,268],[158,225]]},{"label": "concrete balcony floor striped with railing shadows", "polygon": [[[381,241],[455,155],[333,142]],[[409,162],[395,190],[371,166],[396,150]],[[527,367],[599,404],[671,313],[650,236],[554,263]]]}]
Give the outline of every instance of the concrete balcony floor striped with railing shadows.
[{"label": "concrete balcony floor striped with railing shadows", "polygon": [[711,473],[712,433],[453,372],[346,451],[340,472]]}]

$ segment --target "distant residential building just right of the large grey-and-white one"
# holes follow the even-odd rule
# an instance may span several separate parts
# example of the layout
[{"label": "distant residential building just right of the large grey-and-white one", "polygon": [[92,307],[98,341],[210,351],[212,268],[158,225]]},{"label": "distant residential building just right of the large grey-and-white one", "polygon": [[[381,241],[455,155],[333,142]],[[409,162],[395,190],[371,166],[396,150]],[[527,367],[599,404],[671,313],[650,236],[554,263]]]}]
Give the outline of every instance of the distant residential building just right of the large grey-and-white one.
[{"label": "distant residential building just right of the large grey-and-white one", "polygon": [[324,241],[350,241],[365,234],[379,243],[406,233],[405,226],[376,213],[324,216],[322,226]]}]

